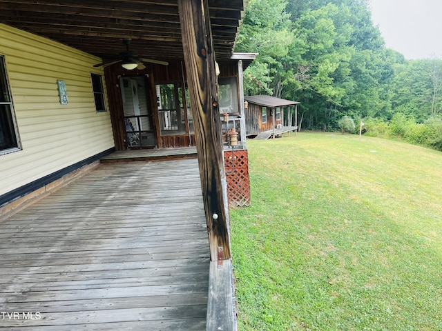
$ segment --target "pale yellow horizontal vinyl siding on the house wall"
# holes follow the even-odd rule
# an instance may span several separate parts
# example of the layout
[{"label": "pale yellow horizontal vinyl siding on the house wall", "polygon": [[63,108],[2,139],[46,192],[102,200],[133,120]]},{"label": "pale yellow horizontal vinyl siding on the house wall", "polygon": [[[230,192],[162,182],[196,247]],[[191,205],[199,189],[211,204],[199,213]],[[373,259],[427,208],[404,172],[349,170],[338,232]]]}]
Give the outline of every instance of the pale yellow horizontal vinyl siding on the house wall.
[{"label": "pale yellow horizontal vinyl siding on the house wall", "polygon": [[[91,72],[103,75],[93,67],[101,59],[3,24],[0,35],[22,148],[0,155],[1,195],[114,143],[109,113],[95,111],[90,79]],[[59,79],[66,82],[66,105],[59,101]]]}]

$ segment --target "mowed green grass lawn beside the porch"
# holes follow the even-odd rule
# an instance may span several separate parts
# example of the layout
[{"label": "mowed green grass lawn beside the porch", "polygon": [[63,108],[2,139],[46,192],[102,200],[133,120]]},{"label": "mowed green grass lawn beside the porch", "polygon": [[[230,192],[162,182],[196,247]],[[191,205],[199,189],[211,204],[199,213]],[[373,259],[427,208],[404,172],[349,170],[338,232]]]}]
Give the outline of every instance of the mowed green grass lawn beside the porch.
[{"label": "mowed green grass lawn beside the porch", "polygon": [[442,330],[442,153],[330,133],[247,141],[240,330]]}]

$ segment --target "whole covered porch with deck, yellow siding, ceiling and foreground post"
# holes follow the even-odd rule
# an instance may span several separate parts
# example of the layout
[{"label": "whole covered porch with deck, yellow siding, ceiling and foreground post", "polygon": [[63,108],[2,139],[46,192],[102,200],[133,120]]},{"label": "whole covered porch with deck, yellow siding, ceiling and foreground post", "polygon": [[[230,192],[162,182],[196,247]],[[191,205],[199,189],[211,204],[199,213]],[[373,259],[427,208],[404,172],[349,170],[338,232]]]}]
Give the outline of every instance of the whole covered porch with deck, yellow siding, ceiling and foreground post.
[{"label": "whole covered porch with deck, yellow siding, ceiling and foreground post", "polygon": [[[39,312],[32,330],[201,330],[205,321],[207,330],[236,329],[218,73],[229,78],[227,85],[239,82],[242,60],[231,61],[245,6],[243,0],[0,2],[0,85],[8,99],[8,137],[15,139],[0,150],[0,208],[19,209],[21,199],[50,195],[2,223],[3,312]],[[242,94],[237,97],[240,110]],[[102,165],[67,186],[66,195],[50,190],[114,150],[183,146],[195,146],[198,163]],[[81,187],[86,178],[92,179]],[[194,187],[200,193],[189,190]],[[186,222],[199,217],[205,222],[188,229]],[[205,241],[201,256],[198,248],[184,257],[187,240]],[[164,250],[151,253],[151,246]],[[155,265],[162,254],[167,258]],[[200,270],[193,257],[210,268],[206,283],[189,276],[182,282],[193,285],[184,290],[168,283],[157,290],[149,276],[140,285],[139,274],[124,278],[128,270],[155,275],[171,268],[163,276],[180,265]],[[79,277],[74,288],[68,274]],[[119,277],[134,285],[119,284]],[[203,310],[195,308],[199,299],[169,297],[200,292],[209,301]],[[160,297],[186,304],[169,308]],[[175,310],[180,313],[168,313]],[[200,322],[180,324],[189,319]],[[169,320],[175,325],[166,325]],[[15,323],[3,324],[10,330],[29,325],[13,317],[8,323]]]}]

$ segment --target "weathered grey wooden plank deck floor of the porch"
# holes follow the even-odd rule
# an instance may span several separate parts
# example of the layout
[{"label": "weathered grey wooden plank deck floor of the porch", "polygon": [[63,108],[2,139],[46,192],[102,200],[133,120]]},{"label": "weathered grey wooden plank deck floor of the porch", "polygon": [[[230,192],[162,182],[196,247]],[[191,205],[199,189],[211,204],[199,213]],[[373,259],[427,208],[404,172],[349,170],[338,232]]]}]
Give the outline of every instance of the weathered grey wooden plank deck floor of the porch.
[{"label": "weathered grey wooden plank deck floor of the porch", "polygon": [[0,328],[206,328],[196,159],[100,165],[1,228]]}]

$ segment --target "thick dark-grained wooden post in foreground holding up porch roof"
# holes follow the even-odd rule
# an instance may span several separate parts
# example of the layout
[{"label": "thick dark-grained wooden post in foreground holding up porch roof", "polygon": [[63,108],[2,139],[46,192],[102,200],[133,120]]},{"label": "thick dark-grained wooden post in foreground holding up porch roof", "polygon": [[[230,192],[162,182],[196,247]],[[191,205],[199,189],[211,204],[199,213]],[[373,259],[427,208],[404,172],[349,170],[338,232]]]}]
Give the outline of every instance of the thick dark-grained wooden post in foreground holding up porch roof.
[{"label": "thick dark-grained wooden post in foreground holding up porch roof", "polygon": [[230,259],[215,53],[206,0],[178,0],[211,260]]}]

